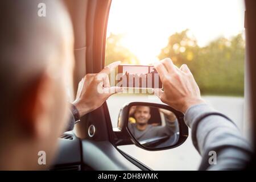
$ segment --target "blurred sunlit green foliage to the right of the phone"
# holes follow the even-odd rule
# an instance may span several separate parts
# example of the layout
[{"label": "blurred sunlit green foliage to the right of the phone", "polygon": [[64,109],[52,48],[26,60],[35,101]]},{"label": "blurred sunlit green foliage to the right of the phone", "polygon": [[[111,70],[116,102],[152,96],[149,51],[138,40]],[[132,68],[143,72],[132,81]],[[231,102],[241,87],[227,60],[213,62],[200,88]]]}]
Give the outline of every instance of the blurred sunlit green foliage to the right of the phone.
[{"label": "blurred sunlit green foliage to the right of the phone", "polygon": [[202,94],[243,96],[245,42],[238,34],[232,39],[218,38],[199,47],[189,31],[171,35],[159,59],[170,57],[180,67],[187,64]]}]

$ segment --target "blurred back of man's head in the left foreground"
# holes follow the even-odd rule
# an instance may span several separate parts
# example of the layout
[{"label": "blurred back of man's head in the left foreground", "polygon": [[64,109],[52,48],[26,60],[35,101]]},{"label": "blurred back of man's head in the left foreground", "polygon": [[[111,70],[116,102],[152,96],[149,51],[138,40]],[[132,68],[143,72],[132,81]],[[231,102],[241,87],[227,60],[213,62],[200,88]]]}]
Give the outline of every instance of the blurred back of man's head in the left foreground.
[{"label": "blurred back of man's head in the left foreground", "polygon": [[[67,108],[61,100],[65,100],[63,70],[68,59],[73,61],[73,32],[68,13],[58,0],[2,0],[0,24],[0,135],[9,135],[5,142],[22,141],[24,147],[47,151],[50,147],[46,147],[44,140],[54,132],[60,133],[56,127],[59,123],[55,122],[58,117],[64,120],[62,115]],[[55,110],[57,107],[59,110]],[[42,140],[42,146],[36,145],[36,140]],[[53,141],[48,138],[49,144]],[[15,154],[12,147],[20,150],[16,151],[20,158],[30,152],[20,144],[10,144],[6,152],[2,146],[5,143],[0,142],[0,163],[9,163],[7,160],[12,157],[3,155]],[[13,160],[24,162],[16,156]]]}]

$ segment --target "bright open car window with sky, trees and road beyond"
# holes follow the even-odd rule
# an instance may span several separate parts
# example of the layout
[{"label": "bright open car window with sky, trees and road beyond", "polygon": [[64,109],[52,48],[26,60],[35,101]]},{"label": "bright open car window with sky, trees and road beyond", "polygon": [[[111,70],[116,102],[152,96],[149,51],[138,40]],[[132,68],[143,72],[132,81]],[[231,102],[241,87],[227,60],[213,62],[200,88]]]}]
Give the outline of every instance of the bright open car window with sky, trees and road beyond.
[{"label": "bright open car window with sky, trees and road beyond", "polygon": [[[113,0],[105,65],[150,64],[170,57],[191,69],[203,98],[242,129],[245,7],[242,0]],[[107,101],[113,127],[126,102],[162,103],[152,94],[115,94]],[[146,151],[121,146],[152,169],[197,169],[200,156],[191,138],[180,147]],[[154,155],[154,158],[151,156]]]}]

